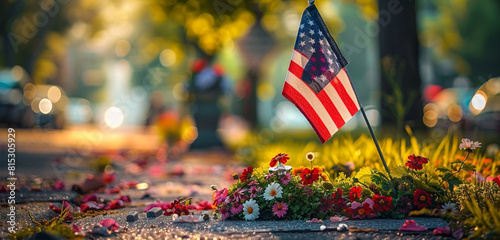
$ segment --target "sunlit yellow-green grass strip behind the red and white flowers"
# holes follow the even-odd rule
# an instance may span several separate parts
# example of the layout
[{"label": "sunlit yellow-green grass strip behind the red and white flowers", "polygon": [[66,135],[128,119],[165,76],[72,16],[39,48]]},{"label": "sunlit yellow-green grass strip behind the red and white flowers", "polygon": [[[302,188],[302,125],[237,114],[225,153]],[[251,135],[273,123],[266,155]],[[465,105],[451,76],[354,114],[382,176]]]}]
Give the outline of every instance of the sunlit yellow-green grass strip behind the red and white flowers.
[{"label": "sunlit yellow-green grass strip behind the red and white flowers", "polygon": [[[440,173],[436,172],[436,169],[450,168],[453,161],[464,158],[464,151],[459,149],[460,138],[453,131],[449,131],[442,139],[426,141],[419,141],[411,131],[408,134],[409,140],[392,137],[379,139],[389,169],[404,166],[408,156],[415,154],[429,158],[430,162],[424,165],[423,170],[432,174],[433,177],[438,177]],[[249,137],[249,139],[255,138],[255,136]],[[292,167],[308,166],[309,162],[305,155],[308,152],[314,152],[316,154],[314,164],[325,166],[332,176],[338,176],[340,172],[355,174],[363,167],[385,172],[375,144],[372,138],[367,135],[361,135],[357,139],[349,135],[334,137],[324,145],[318,141],[299,142],[295,139],[267,144],[258,144],[258,141],[250,140],[247,143],[249,144],[238,148],[237,157],[255,167],[268,167],[270,159],[280,152],[290,156],[288,165]],[[500,174],[500,152],[496,153],[494,159],[487,158],[481,153],[474,153],[471,154],[467,162],[475,165],[476,169],[484,176]],[[471,172],[461,171],[458,177],[466,179],[470,174]]]}]

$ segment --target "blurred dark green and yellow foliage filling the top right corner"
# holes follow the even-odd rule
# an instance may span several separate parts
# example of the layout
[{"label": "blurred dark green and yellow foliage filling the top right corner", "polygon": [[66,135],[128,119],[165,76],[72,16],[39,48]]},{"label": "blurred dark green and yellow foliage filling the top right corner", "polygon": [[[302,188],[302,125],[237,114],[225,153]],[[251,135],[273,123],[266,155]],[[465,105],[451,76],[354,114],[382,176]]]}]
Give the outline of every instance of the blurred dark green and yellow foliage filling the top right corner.
[{"label": "blurred dark green and yellow foliage filling the top right corner", "polygon": [[[477,86],[500,75],[500,25],[496,0],[424,1],[420,43],[431,47],[439,59],[448,58],[455,70]],[[479,79],[478,79],[479,78]]]}]

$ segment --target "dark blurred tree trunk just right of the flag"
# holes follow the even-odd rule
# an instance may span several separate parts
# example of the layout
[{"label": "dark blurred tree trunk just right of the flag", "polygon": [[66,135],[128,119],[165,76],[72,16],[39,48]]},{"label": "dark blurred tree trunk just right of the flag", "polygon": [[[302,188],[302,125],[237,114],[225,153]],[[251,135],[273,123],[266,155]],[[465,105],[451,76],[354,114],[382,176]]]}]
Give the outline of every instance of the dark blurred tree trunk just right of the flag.
[{"label": "dark blurred tree trunk just right of the flag", "polygon": [[382,123],[422,127],[419,42],[415,1],[378,0]]}]

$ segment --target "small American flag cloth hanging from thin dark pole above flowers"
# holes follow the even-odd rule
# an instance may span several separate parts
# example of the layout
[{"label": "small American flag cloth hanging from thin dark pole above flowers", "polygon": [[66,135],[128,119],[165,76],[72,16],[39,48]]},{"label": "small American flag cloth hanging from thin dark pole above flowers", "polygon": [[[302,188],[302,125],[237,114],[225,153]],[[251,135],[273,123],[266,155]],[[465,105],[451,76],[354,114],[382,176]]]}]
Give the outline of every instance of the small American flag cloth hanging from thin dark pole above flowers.
[{"label": "small American flag cloth hanging from thin dark pole above flowers", "polygon": [[282,94],[304,114],[322,143],[360,109],[346,65],[318,9],[309,5],[302,14]]}]

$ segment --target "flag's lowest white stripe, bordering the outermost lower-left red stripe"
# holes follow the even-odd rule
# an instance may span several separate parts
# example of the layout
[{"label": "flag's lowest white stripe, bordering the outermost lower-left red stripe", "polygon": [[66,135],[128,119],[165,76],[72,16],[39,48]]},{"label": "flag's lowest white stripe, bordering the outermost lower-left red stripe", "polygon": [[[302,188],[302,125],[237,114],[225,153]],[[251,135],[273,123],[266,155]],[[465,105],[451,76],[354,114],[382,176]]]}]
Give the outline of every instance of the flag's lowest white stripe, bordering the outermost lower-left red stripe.
[{"label": "flag's lowest white stripe, bordering the outermost lower-left red stripe", "polygon": [[309,87],[309,85],[304,83],[304,81],[296,77],[290,71],[287,73],[286,82],[295,88],[295,90],[297,90],[297,92],[299,92],[300,95],[302,95],[302,97],[304,97],[309,105],[311,105],[311,107],[316,111],[319,118],[328,129],[328,132],[330,132],[330,136],[336,133],[338,130],[337,126],[330,117],[330,114],[328,114],[325,106],[323,106],[318,97],[316,97],[316,93]]}]

